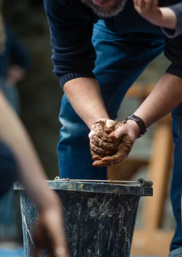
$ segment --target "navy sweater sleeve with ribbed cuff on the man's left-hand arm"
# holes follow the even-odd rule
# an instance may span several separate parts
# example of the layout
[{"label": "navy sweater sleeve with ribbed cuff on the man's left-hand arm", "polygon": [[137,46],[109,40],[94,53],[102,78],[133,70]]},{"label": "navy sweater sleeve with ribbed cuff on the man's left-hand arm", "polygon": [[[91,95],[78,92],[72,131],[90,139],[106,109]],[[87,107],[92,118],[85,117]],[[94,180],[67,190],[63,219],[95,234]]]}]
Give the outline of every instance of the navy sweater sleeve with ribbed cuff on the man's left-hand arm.
[{"label": "navy sweater sleeve with ribbed cuff on the man's left-hand arm", "polygon": [[93,25],[68,0],[44,0],[50,26],[53,72],[63,87],[79,77],[95,78],[92,70],[96,58],[91,43]]}]

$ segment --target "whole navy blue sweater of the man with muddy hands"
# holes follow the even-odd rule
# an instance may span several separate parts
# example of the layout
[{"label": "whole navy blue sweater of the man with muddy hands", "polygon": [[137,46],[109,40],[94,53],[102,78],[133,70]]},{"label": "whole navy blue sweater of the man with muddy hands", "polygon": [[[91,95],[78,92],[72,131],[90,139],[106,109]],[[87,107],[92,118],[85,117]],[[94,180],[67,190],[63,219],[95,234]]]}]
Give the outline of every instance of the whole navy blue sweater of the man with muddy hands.
[{"label": "whole navy blue sweater of the man with muddy hands", "polygon": [[[181,0],[160,0],[159,6],[178,2],[182,9]],[[94,78],[92,70],[96,54],[91,37],[92,24],[98,21],[98,17],[81,0],[44,0],[44,5],[50,26],[54,72],[61,86],[74,78]],[[135,11],[133,0],[128,0],[124,10],[114,18],[106,19],[105,24],[118,33],[144,32],[164,36],[159,27]],[[172,63],[166,72],[182,78],[182,36],[166,37],[164,54]]]}]

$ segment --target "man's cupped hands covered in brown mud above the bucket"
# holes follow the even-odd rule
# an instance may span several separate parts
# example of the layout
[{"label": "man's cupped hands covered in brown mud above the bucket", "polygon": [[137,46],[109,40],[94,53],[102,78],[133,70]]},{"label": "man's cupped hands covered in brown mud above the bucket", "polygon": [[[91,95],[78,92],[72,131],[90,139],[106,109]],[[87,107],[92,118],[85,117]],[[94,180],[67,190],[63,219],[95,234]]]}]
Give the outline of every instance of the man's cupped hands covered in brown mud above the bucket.
[{"label": "man's cupped hands covered in brown mud above the bucket", "polygon": [[126,123],[103,119],[92,125],[89,138],[93,166],[111,166],[128,156],[135,139],[126,133]]}]

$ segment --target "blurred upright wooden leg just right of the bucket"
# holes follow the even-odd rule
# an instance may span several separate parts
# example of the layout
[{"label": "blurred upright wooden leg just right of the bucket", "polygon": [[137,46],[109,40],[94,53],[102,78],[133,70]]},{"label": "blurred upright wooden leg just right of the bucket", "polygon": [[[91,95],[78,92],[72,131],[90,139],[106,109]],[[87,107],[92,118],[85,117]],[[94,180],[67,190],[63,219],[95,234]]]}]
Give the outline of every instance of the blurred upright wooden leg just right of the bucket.
[{"label": "blurred upright wooden leg just right of the bucket", "polygon": [[170,123],[159,122],[154,134],[152,158],[149,163],[149,178],[154,183],[154,196],[147,198],[143,209],[144,228],[148,230],[160,227],[172,151]]}]

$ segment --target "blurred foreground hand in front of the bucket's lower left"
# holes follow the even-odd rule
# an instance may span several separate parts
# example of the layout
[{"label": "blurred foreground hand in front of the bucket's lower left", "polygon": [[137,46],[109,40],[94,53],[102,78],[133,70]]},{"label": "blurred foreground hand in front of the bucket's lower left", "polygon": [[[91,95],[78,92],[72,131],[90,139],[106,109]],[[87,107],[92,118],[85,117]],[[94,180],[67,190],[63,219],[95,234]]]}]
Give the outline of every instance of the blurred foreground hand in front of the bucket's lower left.
[{"label": "blurred foreground hand in front of the bucket's lower left", "polygon": [[47,249],[49,257],[69,257],[60,207],[43,210],[35,225],[34,257]]}]

